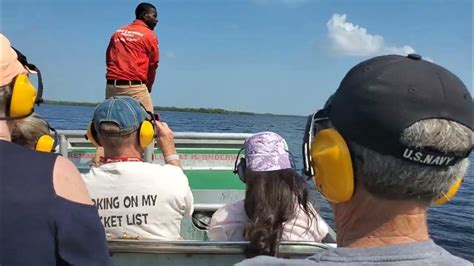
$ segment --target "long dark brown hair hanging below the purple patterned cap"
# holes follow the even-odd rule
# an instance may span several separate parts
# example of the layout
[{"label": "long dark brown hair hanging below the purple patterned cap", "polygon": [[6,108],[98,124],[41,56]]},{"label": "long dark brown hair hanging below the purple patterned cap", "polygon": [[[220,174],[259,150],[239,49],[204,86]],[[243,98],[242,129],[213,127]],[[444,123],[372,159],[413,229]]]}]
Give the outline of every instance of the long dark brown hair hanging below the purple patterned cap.
[{"label": "long dark brown hair hanging below the purple patterned cap", "polygon": [[248,258],[258,255],[275,256],[283,232],[283,224],[296,216],[301,208],[311,224],[315,214],[308,204],[306,179],[293,169],[253,172],[247,169],[245,212],[250,222],[244,237],[250,243]]}]

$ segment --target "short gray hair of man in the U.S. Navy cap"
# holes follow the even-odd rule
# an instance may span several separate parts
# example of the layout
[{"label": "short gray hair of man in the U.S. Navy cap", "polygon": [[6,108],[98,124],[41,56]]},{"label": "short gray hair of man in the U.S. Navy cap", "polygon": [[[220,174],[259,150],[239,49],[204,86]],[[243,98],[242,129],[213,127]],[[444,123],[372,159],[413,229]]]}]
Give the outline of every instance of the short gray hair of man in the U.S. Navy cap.
[{"label": "short gray hair of man in the U.S. Navy cap", "polygon": [[[465,152],[473,146],[473,132],[444,119],[427,119],[404,130],[401,142],[412,147],[432,147],[443,152]],[[439,168],[382,155],[349,142],[356,179],[376,197],[431,201],[443,195],[453,182],[466,175],[469,159]]]}]

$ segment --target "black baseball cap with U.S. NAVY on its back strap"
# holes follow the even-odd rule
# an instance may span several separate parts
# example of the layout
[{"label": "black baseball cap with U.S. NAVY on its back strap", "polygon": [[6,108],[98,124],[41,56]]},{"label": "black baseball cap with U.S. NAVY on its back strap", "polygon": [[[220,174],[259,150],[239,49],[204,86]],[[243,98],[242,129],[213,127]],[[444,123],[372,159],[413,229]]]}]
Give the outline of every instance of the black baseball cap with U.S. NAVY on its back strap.
[{"label": "black baseball cap with U.S. NAVY on its back strap", "polygon": [[417,54],[379,56],[356,65],[327,105],[328,118],[346,140],[381,154],[450,166],[472,150],[445,153],[401,143],[403,131],[420,120],[474,126],[474,104],[463,82]]}]

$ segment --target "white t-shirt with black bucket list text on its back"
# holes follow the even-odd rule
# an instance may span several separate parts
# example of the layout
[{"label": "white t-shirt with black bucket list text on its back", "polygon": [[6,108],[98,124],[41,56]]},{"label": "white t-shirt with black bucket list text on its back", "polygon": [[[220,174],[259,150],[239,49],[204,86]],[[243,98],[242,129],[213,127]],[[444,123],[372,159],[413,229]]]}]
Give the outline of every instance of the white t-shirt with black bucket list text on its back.
[{"label": "white t-shirt with black bucket list text on its back", "polygon": [[180,167],[115,162],[83,177],[109,239],[181,239],[194,199]]}]

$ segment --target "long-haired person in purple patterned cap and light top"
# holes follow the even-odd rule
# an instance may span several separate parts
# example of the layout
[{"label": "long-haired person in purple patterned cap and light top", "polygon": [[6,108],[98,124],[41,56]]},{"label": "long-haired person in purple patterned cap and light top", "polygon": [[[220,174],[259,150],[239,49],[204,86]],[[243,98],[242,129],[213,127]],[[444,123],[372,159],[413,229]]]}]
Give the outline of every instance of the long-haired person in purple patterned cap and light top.
[{"label": "long-haired person in purple patterned cap and light top", "polygon": [[214,213],[209,239],[249,240],[247,257],[274,256],[282,240],[321,242],[328,226],[308,201],[306,178],[293,169],[286,141],[261,132],[244,147],[234,173],[247,185],[245,199]]}]

